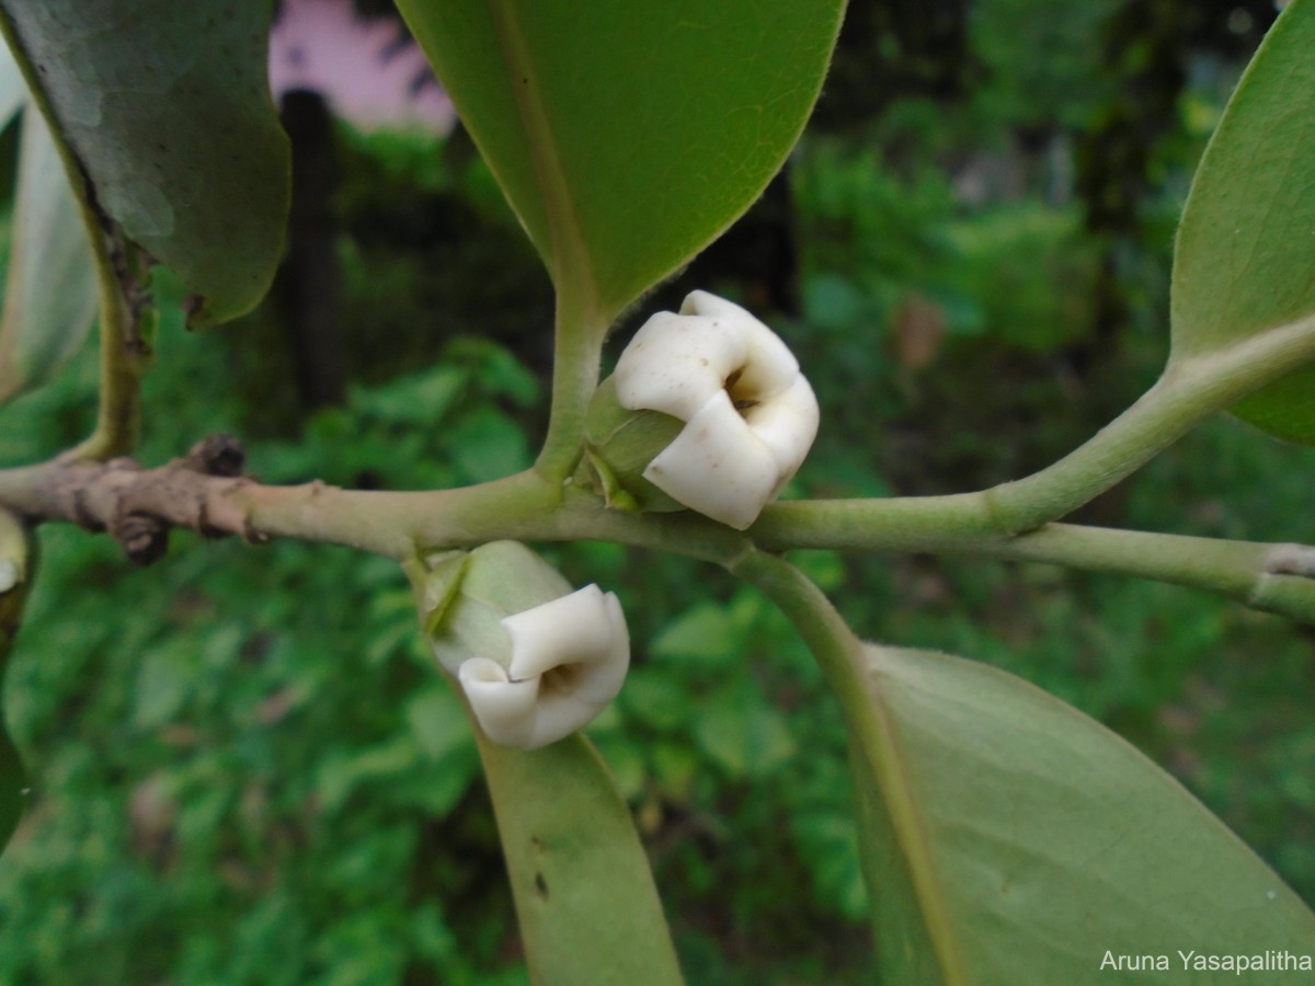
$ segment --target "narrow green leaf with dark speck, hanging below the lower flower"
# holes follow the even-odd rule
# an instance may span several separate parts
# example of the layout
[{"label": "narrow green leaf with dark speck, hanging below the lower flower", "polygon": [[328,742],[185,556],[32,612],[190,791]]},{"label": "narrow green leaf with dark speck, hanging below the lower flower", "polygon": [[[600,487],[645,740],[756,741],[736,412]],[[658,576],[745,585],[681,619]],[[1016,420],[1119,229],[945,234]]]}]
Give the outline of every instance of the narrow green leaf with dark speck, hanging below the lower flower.
[{"label": "narrow green leaf with dark speck, hanging below the lower flower", "polygon": [[681,982],[630,810],[593,745],[479,740],[533,981]]}]

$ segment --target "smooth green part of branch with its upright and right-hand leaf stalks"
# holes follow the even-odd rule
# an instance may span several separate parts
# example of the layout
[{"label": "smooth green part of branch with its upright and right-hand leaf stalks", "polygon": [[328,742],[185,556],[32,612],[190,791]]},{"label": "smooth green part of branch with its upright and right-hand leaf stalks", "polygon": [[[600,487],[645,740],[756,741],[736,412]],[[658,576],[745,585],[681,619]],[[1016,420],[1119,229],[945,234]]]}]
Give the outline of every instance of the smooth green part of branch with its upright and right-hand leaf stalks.
[{"label": "smooth green part of branch with its upright and right-hand leaf stalks", "polygon": [[[752,555],[755,544],[768,550],[982,555],[1177,582],[1302,619],[1315,611],[1310,573],[1289,572],[1274,563],[1276,552],[1306,548],[1060,525],[1035,530],[1107,489],[1218,409],[1315,358],[1315,317],[1211,355],[1172,362],[1161,380],[1120,418],[1028,479],[944,497],[780,504],[740,535],[689,513],[604,510],[588,493],[563,486],[579,455],[601,333],[592,331],[596,326],[590,325],[589,308],[571,302],[581,294],[560,297],[558,385],[548,440],[534,473],[431,493],[249,486],[241,496],[252,527],[398,557],[416,544],[468,546],[493,538],[611,539],[727,565]],[[0,502],[12,502],[3,481]],[[1015,536],[1018,531],[1032,534]]]}]

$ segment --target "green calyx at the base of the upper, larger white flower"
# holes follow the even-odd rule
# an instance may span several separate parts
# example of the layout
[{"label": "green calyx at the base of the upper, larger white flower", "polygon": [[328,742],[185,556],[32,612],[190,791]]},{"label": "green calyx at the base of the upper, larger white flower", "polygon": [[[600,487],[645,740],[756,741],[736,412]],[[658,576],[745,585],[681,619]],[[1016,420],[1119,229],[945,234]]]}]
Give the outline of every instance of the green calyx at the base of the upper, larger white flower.
[{"label": "green calyx at the base of the upper, larger white flower", "polygon": [[685,506],[644,479],[658,454],[672,443],[685,422],[654,410],[629,410],[617,400],[608,377],[589,401],[585,454],[576,482],[593,489],[614,510],[669,513]]}]

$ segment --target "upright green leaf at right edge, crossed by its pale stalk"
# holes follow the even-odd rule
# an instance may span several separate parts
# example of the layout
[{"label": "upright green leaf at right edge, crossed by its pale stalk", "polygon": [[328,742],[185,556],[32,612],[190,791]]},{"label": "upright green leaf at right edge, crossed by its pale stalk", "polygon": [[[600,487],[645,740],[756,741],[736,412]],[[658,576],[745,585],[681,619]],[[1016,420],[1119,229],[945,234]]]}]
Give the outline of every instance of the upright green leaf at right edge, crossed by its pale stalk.
[{"label": "upright green leaf at right edge, crossed by its pale stalk", "polygon": [[[1173,270],[1170,365],[1315,316],[1315,0],[1274,22],[1187,197]],[[1233,411],[1315,442],[1315,368]]]}]

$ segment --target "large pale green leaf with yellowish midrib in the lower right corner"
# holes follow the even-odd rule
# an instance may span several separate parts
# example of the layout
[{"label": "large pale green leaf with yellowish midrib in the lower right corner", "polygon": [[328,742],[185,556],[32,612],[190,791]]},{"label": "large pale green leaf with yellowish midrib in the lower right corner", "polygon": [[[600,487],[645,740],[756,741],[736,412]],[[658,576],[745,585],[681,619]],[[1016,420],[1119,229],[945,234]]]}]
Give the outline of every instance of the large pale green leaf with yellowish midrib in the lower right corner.
[{"label": "large pale green leaf with yellowish midrib in the lower right corner", "polygon": [[1135,975],[1109,961],[1151,954],[1166,982],[1233,983],[1178,952],[1310,954],[1315,915],[1099,723],[982,664],[864,660],[853,773],[877,981],[1109,983]]}]

